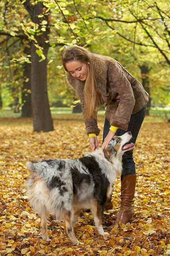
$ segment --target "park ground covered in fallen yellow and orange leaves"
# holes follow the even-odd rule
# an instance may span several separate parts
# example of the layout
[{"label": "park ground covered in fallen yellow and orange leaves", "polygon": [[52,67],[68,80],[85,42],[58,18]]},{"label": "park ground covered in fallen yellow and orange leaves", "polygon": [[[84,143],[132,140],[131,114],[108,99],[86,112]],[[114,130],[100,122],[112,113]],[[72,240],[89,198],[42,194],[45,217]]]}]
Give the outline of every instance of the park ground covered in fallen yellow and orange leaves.
[{"label": "park ground covered in fallen yellow and orange leaves", "polygon": [[[114,209],[104,213],[104,229],[98,236],[90,211],[82,211],[75,227],[84,245],[73,246],[64,223],[49,215],[51,242],[41,239],[40,219],[30,208],[24,182],[25,163],[42,158],[78,158],[90,152],[81,118],[55,120],[55,131],[33,133],[31,120],[1,119],[0,125],[0,255],[170,255],[168,245],[169,159],[167,123],[144,122],[134,156],[137,188],[136,218],[109,229],[120,205],[120,177],[113,192]],[[103,118],[99,119],[103,129]],[[101,142],[101,135],[99,136]]]}]

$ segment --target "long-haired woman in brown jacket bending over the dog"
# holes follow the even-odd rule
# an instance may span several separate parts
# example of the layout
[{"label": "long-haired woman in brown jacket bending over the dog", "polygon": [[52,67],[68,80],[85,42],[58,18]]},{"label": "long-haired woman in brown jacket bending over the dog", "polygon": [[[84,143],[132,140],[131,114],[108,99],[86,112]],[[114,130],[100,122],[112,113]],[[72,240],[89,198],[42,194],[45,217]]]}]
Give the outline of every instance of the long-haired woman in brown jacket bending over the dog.
[{"label": "long-haired woman in brown jacket bending over the dog", "polygon": [[[76,91],[82,104],[86,134],[91,149],[98,148],[97,110],[100,104],[107,106],[103,130],[102,149],[114,135],[132,132],[135,143],[145,117],[148,93],[142,84],[114,59],[91,53],[80,46],[68,47],[62,55],[67,80]],[[133,152],[123,155],[121,176],[121,209],[114,224],[119,220],[126,224],[134,214],[132,208],[136,186]],[[106,208],[112,209],[111,201]]]}]

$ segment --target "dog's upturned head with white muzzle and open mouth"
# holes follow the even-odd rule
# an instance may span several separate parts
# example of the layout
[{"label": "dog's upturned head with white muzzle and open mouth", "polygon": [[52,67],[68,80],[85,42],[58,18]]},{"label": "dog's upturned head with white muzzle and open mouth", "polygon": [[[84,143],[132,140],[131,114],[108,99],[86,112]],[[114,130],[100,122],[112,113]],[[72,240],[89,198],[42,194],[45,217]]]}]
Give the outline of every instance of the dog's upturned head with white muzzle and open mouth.
[{"label": "dog's upturned head with white muzzle and open mouth", "polygon": [[105,158],[112,162],[113,157],[122,157],[122,155],[134,149],[134,143],[127,144],[131,140],[132,134],[130,131],[122,136],[114,136],[109,142],[108,147],[103,150]]}]

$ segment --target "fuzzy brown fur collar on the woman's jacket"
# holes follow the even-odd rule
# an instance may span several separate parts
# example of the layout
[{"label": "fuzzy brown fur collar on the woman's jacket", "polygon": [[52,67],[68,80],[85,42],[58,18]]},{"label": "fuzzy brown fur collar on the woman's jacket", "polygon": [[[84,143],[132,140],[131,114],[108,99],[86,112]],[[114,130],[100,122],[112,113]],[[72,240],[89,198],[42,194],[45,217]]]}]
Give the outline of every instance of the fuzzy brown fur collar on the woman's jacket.
[{"label": "fuzzy brown fur collar on the woman's jacket", "polygon": [[[99,56],[99,55],[98,55]],[[96,86],[101,94],[101,99],[103,103],[108,103],[110,94],[107,92],[107,70],[108,70],[108,60],[105,59],[105,56],[100,56],[101,60],[95,59],[93,61],[93,69],[95,71]],[[110,58],[111,59],[111,58]],[[66,79],[69,84],[76,91],[76,94],[81,99],[84,99],[84,85],[85,82],[74,78],[69,72],[66,74]]]}]

